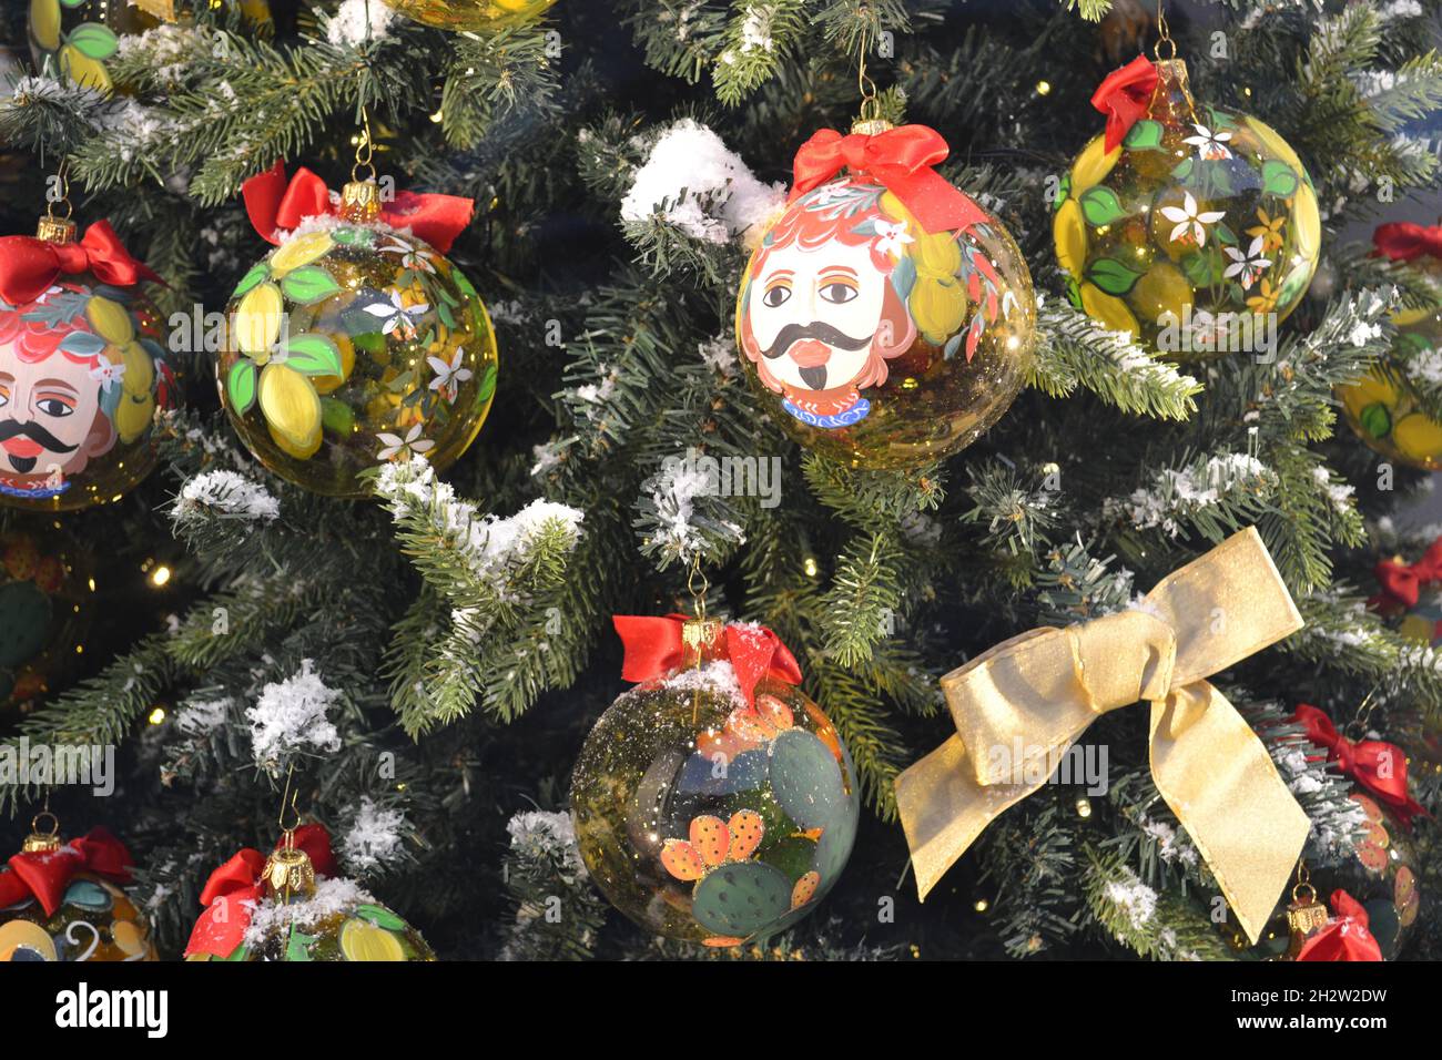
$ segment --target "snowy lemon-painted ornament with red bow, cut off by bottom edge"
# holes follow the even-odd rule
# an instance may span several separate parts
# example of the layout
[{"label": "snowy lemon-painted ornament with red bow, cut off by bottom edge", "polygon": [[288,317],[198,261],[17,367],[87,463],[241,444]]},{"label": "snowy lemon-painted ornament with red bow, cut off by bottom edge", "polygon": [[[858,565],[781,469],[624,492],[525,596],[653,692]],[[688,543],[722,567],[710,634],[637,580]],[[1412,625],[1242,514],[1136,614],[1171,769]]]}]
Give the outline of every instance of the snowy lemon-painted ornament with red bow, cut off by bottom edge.
[{"label": "snowy lemon-painted ornament with red bow, cut off by bottom edge", "polygon": [[211,874],[186,960],[434,960],[420,932],[339,875],[320,825],[267,858],[242,849]]}]

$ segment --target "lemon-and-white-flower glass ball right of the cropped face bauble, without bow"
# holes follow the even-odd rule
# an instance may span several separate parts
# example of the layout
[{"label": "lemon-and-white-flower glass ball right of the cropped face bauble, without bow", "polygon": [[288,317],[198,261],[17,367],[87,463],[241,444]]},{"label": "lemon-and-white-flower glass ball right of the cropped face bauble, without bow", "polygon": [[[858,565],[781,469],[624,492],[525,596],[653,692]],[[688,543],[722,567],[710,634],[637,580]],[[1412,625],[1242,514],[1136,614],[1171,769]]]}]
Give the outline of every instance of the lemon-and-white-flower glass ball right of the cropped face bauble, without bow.
[{"label": "lemon-and-white-flower glass ball right of the cropped face bauble, without bow", "polygon": [[437,470],[470,446],[496,391],[496,336],[470,281],[382,222],[319,218],[245,274],[216,362],[221,401],[270,470],[358,498],[378,461]]}]

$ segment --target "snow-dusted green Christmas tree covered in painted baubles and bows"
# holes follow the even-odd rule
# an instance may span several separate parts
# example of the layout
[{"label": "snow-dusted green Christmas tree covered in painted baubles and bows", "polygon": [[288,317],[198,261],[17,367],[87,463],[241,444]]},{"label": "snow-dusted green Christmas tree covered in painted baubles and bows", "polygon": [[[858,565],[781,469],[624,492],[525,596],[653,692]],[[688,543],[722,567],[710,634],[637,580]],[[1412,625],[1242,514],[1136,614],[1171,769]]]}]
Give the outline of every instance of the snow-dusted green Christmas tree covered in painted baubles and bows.
[{"label": "snow-dusted green Christmas tree covered in painted baubles and bows", "polygon": [[0,836],[159,956],[278,841],[352,958],[1442,955],[1442,3],[0,17]]}]

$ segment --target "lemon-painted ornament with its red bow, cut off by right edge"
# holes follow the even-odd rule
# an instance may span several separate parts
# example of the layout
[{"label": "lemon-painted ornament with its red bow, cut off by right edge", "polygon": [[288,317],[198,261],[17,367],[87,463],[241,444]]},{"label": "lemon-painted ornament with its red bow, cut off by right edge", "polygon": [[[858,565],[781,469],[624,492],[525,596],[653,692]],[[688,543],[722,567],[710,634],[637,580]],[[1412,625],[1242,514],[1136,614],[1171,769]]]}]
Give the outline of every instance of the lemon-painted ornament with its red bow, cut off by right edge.
[{"label": "lemon-painted ornament with its red bow, cut off by right edge", "polygon": [[[1425,397],[1435,388],[1442,358],[1442,225],[1407,222],[1380,225],[1373,234],[1379,254],[1410,261],[1435,281],[1435,304],[1394,313],[1397,337],[1387,359],[1360,382],[1338,387],[1348,425],[1357,437],[1389,460],[1442,470],[1442,423]],[[1428,382],[1419,387],[1413,375]]]}]

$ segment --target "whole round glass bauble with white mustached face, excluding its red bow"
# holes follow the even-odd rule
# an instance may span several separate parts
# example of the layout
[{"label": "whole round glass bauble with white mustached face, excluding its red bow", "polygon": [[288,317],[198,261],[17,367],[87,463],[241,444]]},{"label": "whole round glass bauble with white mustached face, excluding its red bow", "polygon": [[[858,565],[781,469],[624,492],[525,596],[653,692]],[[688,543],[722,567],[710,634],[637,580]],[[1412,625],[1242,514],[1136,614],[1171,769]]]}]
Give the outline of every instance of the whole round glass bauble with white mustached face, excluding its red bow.
[{"label": "whole round glass bauble with white mustached face, excluding its red bow", "polygon": [[1031,274],[996,221],[927,232],[848,176],[797,196],[741,278],[737,342],[774,420],[854,467],[950,456],[1001,418],[1035,342]]}]

